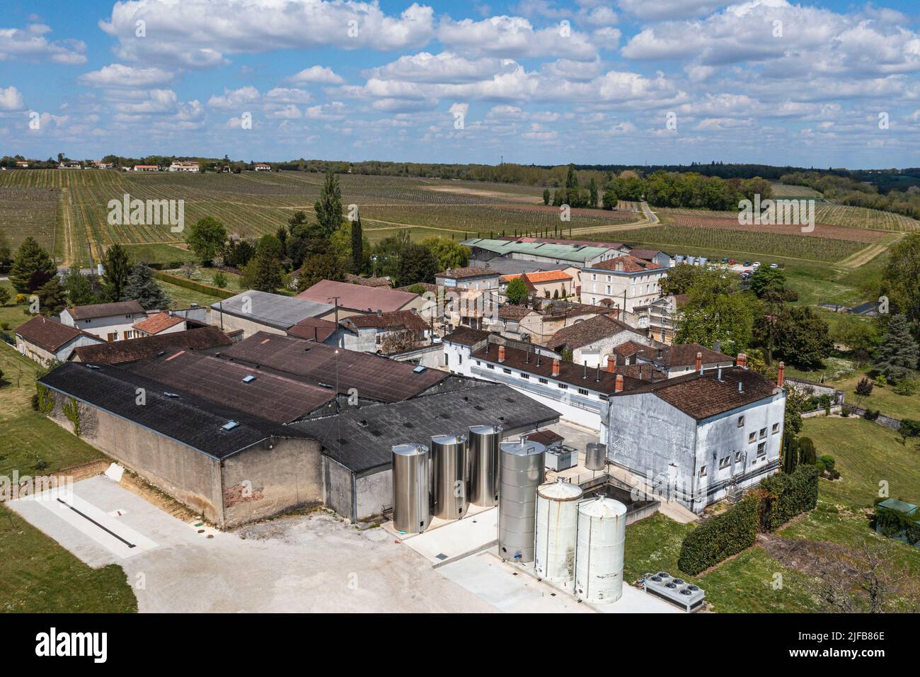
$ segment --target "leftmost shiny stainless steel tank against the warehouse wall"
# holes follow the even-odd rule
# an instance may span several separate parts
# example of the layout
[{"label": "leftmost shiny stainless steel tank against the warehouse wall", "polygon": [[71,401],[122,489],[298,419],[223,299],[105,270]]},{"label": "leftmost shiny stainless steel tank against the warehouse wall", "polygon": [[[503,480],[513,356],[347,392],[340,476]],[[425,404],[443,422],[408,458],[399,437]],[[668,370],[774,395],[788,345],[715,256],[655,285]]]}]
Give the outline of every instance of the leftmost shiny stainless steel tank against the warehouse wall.
[{"label": "leftmost shiny stainless steel tank against the warehouse wall", "polygon": [[397,444],[393,447],[393,527],[420,533],[431,522],[428,447]]}]

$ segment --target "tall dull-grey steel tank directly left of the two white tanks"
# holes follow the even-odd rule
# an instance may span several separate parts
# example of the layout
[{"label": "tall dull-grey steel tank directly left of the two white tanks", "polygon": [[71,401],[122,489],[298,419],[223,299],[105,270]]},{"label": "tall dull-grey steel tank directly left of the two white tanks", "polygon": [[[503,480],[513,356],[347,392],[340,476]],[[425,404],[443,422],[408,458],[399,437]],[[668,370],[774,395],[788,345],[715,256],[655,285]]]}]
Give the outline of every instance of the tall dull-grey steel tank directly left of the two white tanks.
[{"label": "tall dull-grey steel tank directly left of the two white tanks", "polygon": [[534,561],[536,487],[543,482],[546,451],[539,442],[500,444],[499,555],[517,562]]}]

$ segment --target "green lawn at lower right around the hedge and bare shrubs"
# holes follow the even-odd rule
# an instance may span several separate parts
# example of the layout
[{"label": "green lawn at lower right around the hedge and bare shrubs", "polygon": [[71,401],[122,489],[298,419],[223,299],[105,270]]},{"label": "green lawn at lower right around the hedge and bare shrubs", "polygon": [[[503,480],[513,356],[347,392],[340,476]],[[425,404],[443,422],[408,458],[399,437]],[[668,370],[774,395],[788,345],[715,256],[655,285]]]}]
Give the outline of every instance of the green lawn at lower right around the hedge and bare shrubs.
[{"label": "green lawn at lower right around the hedge and bare shrubs", "polygon": [[[891,496],[916,503],[920,498],[920,449],[910,443],[903,447],[893,431],[853,417],[806,419],[802,435],[815,442],[819,454],[834,456],[841,479],[822,479],[818,508],[794,520],[779,535],[856,547],[865,541],[881,543],[892,566],[920,578],[920,550],[876,536],[860,509],[872,506],[883,480],[889,483]],[[661,514],[627,527],[625,582],[665,570],[705,589],[707,601],[717,612],[825,611],[821,601],[802,594],[796,585],[803,580],[802,574],[780,564],[759,546],[703,576],[684,576],[677,567],[677,557],[684,536],[693,529],[693,525],[679,524]],[[782,580],[782,586],[776,586],[776,580]]]}]

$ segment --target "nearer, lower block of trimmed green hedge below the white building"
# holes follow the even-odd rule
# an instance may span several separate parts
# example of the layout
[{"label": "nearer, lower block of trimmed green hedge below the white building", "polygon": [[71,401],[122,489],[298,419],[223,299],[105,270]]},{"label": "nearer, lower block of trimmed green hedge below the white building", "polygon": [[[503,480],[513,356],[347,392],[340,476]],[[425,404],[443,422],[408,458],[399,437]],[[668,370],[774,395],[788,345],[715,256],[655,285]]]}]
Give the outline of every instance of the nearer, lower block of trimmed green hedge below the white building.
[{"label": "nearer, lower block of trimmed green hedge below the white building", "polygon": [[677,566],[696,576],[723,559],[751,547],[757,540],[757,496],[745,496],[723,512],[690,531],[681,543]]}]

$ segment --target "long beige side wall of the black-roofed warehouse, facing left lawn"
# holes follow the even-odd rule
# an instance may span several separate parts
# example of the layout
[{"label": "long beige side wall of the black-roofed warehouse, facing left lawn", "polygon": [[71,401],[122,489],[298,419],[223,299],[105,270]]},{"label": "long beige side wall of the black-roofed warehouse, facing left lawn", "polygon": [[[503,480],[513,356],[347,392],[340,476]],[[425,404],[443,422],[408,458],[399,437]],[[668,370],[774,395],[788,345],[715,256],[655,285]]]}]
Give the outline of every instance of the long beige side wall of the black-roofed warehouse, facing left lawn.
[{"label": "long beige side wall of the black-roofed warehouse, facing left lawn", "polygon": [[[62,404],[70,398],[52,392],[52,419],[73,432]],[[223,519],[220,463],[200,451],[165,438],[153,430],[79,403],[81,437],[145,480],[174,496],[205,519]]]}]

